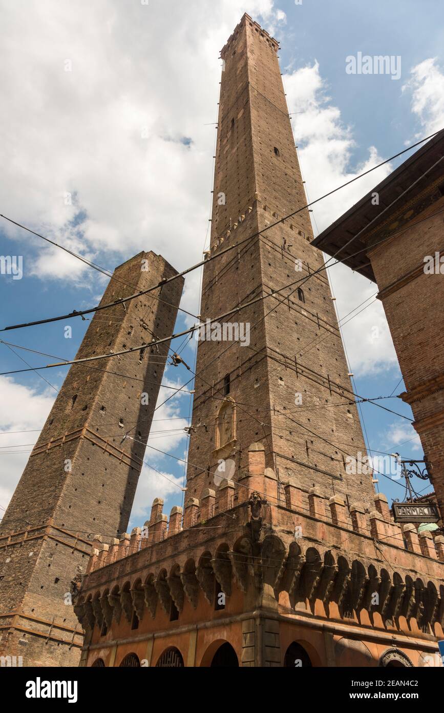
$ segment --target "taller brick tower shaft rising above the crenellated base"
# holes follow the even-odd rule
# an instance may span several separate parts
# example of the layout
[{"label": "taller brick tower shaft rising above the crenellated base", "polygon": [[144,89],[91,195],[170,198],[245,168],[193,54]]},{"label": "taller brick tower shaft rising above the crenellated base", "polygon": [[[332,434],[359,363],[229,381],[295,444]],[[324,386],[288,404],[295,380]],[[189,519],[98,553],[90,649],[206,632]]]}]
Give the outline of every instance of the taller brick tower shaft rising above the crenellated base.
[{"label": "taller brick tower shaft rising above the crenellated base", "polygon": [[347,453],[366,451],[326,274],[280,292],[322,265],[309,212],[257,235],[307,202],[277,50],[245,15],[221,51],[211,254],[255,237],[204,267],[201,319],[276,294],[227,318],[239,334],[249,326],[249,344],[199,343],[189,494],[213,487],[221,459],[241,477],[246,449],[260,440],[278,482],[368,506],[371,477],[346,472]]}]

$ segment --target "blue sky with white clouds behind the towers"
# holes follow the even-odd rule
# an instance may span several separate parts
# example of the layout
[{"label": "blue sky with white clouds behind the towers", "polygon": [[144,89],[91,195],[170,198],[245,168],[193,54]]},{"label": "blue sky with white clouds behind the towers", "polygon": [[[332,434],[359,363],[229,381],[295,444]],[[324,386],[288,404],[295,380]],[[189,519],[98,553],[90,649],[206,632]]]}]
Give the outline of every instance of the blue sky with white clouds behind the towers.
[{"label": "blue sky with white clouds behind the towers", "polygon": [[[309,200],[442,128],[439,0],[1,0],[0,9],[0,212],[108,270],[139,250],[162,253],[178,270],[201,259],[208,241],[218,56],[245,11],[281,43]],[[398,58],[400,76],[347,73],[347,56],[359,52]],[[315,234],[398,163],[319,202],[312,213]],[[106,285],[84,263],[3,219],[0,255],[23,257],[22,279],[0,275],[0,327],[91,306]],[[347,322],[343,334],[357,393],[400,393],[376,286],[340,265],[329,278],[339,317]],[[186,281],[181,306],[191,312],[198,307],[199,279],[196,270]],[[179,317],[177,327],[184,324]],[[65,339],[64,326],[1,337],[70,359],[88,322],[72,322],[72,339]],[[195,344],[184,351],[191,364]],[[0,344],[2,372],[46,363],[44,356]],[[65,372],[0,376],[0,508],[9,502]],[[184,383],[188,374],[171,366],[165,387]],[[166,394],[171,389],[161,389],[162,401]],[[165,498],[165,511],[181,504],[184,463],[176,458],[186,453],[181,429],[189,399],[182,394],[156,411],[131,526],[144,521],[155,496]],[[399,399],[380,403],[411,416]],[[408,420],[370,404],[361,415],[375,457],[393,451],[422,457]],[[388,463],[379,467],[388,472]],[[379,481],[388,496],[402,495],[398,483]]]}]

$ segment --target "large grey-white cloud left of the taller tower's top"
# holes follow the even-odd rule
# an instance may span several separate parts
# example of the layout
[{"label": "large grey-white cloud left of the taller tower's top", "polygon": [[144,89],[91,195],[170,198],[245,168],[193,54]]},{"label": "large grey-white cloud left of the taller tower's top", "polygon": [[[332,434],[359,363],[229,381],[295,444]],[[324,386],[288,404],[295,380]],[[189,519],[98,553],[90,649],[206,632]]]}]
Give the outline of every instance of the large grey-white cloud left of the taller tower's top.
[{"label": "large grey-white cloud left of the taller tower's top", "polygon": [[[2,4],[3,212],[105,267],[142,249],[177,269],[199,259],[219,51],[244,11],[268,26],[285,14],[273,0]],[[2,227],[37,252],[33,274],[94,288],[75,258]]]}]

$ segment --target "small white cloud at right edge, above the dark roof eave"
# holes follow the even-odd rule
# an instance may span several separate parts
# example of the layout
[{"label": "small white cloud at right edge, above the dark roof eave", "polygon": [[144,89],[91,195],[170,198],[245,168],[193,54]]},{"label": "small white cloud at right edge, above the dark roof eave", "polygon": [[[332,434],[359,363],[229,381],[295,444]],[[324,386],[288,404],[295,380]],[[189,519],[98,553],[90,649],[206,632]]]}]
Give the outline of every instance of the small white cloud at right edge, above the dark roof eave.
[{"label": "small white cloud at right edge, above the dark roof eave", "polygon": [[403,92],[411,93],[411,111],[416,114],[426,133],[443,128],[444,73],[440,70],[436,58],[430,57],[413,67],[411,78],[404,84]]}]

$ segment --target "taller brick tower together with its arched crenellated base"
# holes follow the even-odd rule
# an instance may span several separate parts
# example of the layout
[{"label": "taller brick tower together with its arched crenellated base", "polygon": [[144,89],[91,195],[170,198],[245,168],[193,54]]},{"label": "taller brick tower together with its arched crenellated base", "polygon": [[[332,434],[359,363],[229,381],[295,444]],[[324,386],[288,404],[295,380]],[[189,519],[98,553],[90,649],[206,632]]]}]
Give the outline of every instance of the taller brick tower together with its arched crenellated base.
[{"label": "taller brick tower together with its arched crenellated base", "polygon": [[211,255],[236,247],[201,320],[230,313],[238,341],[199,342],[184,513],[157,498],[143,533],[93,543],[85,666],[438,665],[444,538],[347,471],[364,439],[328,283],[297,289],[322,254],[277,48],[245,14],[221,53]]}]

